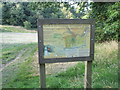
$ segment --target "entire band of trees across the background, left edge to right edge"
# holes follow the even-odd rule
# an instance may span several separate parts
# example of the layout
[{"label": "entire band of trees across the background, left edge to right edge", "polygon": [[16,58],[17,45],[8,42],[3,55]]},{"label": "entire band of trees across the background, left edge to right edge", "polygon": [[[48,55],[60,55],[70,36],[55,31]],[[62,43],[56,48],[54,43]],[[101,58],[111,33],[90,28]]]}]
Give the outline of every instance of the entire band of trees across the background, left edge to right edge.
[{"label": "entire band of trees across the background, left edge to right edge", "polygon": [[38,18],[94,18],[96,41],[118,40],[120,2],[112,3],[59,3],[18,2],[2,3],[2,24],[37,27]]}]

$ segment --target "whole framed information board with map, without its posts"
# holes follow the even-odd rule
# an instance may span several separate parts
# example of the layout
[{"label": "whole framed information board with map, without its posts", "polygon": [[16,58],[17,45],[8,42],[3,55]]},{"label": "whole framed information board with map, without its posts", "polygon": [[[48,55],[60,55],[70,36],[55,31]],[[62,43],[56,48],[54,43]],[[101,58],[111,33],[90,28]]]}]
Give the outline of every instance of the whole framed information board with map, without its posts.
[{"label": "whole framed information board with map, without its posts", "polygon": [[40,63],[92,60],[94,21],[83,19],[39,19]]}]

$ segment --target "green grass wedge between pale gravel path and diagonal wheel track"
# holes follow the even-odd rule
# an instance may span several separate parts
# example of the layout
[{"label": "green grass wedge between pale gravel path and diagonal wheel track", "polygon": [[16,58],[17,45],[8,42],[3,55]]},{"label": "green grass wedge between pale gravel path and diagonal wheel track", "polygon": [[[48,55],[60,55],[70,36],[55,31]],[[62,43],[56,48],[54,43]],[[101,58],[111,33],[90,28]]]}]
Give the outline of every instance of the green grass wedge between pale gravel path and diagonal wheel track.
[{"label": "green grass wedge between pale gravel path and diagonal wheel track", "polygon": [[15,59],[27,47],[27,44],[2,44],[2,64]]}]

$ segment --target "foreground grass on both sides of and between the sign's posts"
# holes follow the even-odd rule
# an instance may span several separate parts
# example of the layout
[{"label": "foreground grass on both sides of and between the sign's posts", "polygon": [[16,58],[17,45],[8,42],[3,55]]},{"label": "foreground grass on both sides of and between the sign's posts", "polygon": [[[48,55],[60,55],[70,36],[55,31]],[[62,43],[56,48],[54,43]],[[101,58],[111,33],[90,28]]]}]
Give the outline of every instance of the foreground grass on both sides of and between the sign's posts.
[{"label": "foreground grass on both sides of and between the sign's posts", "polygon": [[[118,43],[115,41],[95,45],[95,60],[92,65],[93,88],[118,88]],[[37,44],[28,45],[28,50],[13,64],[3,70],[3,88],[39,88],[39,75],[33,62]],[[9,72],[9,75],[6,74]],[[12,76],[11,76],[12,75]],[[11,77],[11,78],[9,78]],[[66,71],[47,75],[47,88],[83,88],[84,62]]]}]

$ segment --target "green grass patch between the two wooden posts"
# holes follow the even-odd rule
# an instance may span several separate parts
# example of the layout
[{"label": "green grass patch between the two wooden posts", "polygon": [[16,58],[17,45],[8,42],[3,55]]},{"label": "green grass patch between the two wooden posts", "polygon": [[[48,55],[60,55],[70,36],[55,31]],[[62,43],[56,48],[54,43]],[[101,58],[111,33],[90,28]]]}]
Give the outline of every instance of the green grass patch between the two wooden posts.
[{"label": "green grass patch between the two wooden posts", "polygon": [[77,64],[65,72],[47,77],[48,88],[83,88],[84,64]]}]

